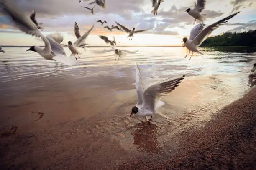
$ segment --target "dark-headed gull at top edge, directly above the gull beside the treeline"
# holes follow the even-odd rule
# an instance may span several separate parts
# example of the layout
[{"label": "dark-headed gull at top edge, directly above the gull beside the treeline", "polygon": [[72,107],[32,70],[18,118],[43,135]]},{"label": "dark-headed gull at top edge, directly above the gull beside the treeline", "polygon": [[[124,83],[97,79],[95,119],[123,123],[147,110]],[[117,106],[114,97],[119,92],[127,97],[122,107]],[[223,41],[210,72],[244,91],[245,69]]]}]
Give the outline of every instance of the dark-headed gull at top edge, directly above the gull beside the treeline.
[{"label": "dark-headed gull at top edge, directly above the gull beside the treeline", "polygon": [[185,12],[187,12],[189,15],[195,18],[195,21],[193,24],[195,24],[196,20],[200,20],[202,23],[205,20],[205,15],[200,14],[203,9],[205,9],[205,0],[197,0],[197,3],[195,3],[194,9],[187,8]]}]

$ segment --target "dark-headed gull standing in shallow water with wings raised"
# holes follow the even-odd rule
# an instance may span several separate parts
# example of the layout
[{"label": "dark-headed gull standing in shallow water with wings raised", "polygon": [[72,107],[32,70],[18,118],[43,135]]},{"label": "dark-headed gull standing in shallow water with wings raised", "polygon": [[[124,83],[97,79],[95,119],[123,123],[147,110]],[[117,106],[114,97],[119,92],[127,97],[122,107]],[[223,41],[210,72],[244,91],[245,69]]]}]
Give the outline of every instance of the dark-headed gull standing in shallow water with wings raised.
[{"label": "dark-headed gull standing in shallow water with wings raised", "polygon": [[144,90],[143,82],[141,78],[141,71],[139,66],[136,64],[135,70],[135,85],[138,95],[138,102],[136,106],[132,107],[131,115],[135,117],[146,117],[151,116],[156,112],[157,109],[164,105],[161,101],[162,96],[168,95],[172,90],[179,86],[181,80],[183,80],[185,75],[168,78],[154,85],[151,85],[146,90]]}]

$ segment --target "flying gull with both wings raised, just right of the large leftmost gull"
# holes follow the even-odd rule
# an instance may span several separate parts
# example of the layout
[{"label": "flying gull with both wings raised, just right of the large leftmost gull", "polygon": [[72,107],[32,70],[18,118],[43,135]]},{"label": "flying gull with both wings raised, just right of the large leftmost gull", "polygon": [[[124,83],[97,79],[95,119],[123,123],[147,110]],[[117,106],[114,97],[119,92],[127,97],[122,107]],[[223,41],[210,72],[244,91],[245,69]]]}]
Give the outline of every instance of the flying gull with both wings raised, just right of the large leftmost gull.
[{"label": "flying gull with both wings raised, just right of the large leftmost gull", "polygon": [[[77,50],[77,47],[82,47],[85,46],[84,40],[87,38],[87,36],[90,34],[90,32],[92,31],[94,25],[92,25],[92,28],[90,28],[90,30],[88,30],[87,32],[84,33],[83,36],[79,37],[77,39],[76,42],[74,42],[74,44],[71,41],[68,41],[68,48],[71,51],[71,55],[74,55],[75,59],[77,60],[76,55],[78,55],[79,57],[79,51]],[[75,31],[76,31],[76,25],[75,25]],[[76,34],[78,35],[78,34]],[[79,57],[80,58],[80,57]]]}]

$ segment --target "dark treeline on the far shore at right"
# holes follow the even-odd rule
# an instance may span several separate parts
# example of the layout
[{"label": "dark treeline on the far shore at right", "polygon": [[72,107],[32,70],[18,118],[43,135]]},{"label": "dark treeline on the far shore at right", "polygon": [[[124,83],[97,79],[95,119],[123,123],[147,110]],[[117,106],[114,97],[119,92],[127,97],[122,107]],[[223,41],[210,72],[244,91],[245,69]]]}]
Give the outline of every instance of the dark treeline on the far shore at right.
[{"label": "dark treeline on the far shore at right", "polygon": [[248,32],[225,32],[215,37],[208,37],[200,47],[247,46],[256,47],[256,30]]}]

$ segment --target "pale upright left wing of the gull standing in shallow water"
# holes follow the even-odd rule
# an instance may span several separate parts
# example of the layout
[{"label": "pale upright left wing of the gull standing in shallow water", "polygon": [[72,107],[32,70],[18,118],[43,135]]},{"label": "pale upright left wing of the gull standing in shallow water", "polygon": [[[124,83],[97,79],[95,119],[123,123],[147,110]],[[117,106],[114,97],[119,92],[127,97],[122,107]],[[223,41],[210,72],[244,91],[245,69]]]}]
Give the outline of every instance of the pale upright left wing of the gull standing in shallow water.
[{"label": "pale upright left wing of the gull standing in shallow water", "polygon": [[137,105],[142,105],[144,87],[143,87],[142,78],[141,78],[141,70],[137,65],[137,63],[136,63],[136,70],[135,70],[135,86],[136,86],[136,92],[138,95]]}]

